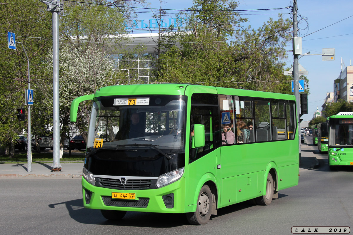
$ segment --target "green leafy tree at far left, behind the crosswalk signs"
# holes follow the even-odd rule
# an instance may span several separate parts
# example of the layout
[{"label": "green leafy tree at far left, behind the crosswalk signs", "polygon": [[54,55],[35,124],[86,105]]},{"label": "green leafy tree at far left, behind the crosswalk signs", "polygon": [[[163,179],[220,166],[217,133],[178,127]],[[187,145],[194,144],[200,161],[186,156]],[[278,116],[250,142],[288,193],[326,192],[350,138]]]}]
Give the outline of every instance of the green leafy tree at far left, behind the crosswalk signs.
[{"label": "green leafy tree at far left, behind the crosswalk signs", "polygon": [[[41,62],[46,56],[47,48],[51,47],[52,23],[46,7],[39,1],[8,0],[6,4],[0,5],[0,11],[0,29],[3,36],[3,43],[0,44],[0,143],[5,148],[5,153],[13,157],[12,140],[27,129],[26,122],[18,122],[16,108],[25,107],[24,89],[28,87],[28,68],[27,58],[20,44],[16,44],[16,50],[7,48],[7,31],[14,32],[16,41],[23,43],[30,60],[31,88],[34,88],[34,81],[43,79]],[[35,90],[35,95],[37,92],[40,90]],[[32,106],[32,114],[36,112],[38,103],[40,102]],[[32,122],[32,126],[35,123]]]}]

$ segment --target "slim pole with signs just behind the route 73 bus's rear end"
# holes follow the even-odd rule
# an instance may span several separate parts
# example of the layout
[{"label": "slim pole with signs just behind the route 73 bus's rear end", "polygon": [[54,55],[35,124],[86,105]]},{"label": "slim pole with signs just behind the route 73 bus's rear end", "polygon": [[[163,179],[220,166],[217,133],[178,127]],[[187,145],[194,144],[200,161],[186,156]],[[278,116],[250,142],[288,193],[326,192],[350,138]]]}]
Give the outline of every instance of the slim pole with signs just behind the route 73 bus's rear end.
[{"label": "slim pole with signs just behind the route 73 bus's rear end", "polygon": [[[297,0],[293,1],[293,37],[298,36],[298,20],[297,20]],[[294,85],[294,96],[295,96],[295,102],[297,103],[297,126],[298,126],[298,144],[299,144],[299,153],[300,153],[300,103],[299,103],[299,73],[298,73],[298,55],[294,54],[294,60],[293,60],[293,85]]]}]

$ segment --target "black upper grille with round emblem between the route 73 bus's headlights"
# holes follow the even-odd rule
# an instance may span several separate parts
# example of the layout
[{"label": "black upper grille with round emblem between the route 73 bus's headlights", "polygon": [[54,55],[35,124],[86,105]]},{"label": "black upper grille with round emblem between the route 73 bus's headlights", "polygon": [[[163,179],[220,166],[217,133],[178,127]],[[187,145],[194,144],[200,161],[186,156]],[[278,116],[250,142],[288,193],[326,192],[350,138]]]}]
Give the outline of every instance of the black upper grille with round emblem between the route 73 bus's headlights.
[{"label": "black upper grille with round emblem between the route 73 bus's headlights", "polygon": [[119,179],[95,177],[95,186],[103,188],[112,188],[119,190],[139,190],[139,189],[155,189],[156,179],[128,179],[126,184],[121,184]]}]

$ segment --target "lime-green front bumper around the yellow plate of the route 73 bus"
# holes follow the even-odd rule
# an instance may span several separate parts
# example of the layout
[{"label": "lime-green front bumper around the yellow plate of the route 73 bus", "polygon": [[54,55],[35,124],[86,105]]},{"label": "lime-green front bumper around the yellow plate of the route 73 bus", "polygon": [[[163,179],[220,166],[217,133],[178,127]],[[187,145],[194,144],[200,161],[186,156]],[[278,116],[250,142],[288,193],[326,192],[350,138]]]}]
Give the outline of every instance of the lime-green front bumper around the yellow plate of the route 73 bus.
[{"label": "lime-green front bumper around the yellow plate of the route 73 bus", "polygon": [[[113,192],[135,193],[136,199],[112,199]],[[84,207],[90,209],[160,213],[185,212],[184,177],[167,186],[149,190],[115,190],[96,187],[82,177],[82,194]]]}]

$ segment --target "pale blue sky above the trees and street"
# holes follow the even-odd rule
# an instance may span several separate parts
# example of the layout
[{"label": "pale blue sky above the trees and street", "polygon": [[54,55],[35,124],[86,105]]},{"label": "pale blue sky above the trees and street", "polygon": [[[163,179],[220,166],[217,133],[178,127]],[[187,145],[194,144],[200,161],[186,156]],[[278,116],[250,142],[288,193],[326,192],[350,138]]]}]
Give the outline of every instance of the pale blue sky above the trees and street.
[{"label": "pale blue sky above the trees and street", "polygon": [[[159,0],[150,0],[151,8],[159,8]],[[238,1],[238,10],[270,9],[293,6],[293,1],[283,0],[246,0]],[[310,54],[321,54],[322,48],[335,48],[334,61],[322,61],[321,55],[307,55],[299,59],[299,63],[309,74],[308,114],[301,118],[309,121],[317,107],[322,110],[327,92],[333,92],[333,83],[341,72],[341,58],[345,66],[353,62],[353,1],[352,0],[297,0],[298,3],[298,28],[299,36],[302,37],[303,54],[310,51]],[[190,0],[163,1],[163,9],[187,9],[192,6]],[[151,13],[146,13],[150,11]],[[167,11],[172,17],[177,11]],[[282,13],[283,18],[292,19],[290,9],[272,10],[263,12],[240,12],[241,17],[248,18],[244,26],[248,24],[257,29],[269,18],[277,19],[277,14]],[[349,17],[349,18],[348,18]],[[347,19],[346,19],[347,18]],[[152,19],[152,10],[143,10],[139,13],[139,20]],[[142,32],[139,32],[142,33]],[[288,45],[286,50],[292,50]],[[287,52],[287,67],[293,66],[293,54]],[[342,63],[342,64],[343,64]],[[345,67],[342,65],[342,68]]]}]

